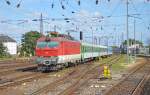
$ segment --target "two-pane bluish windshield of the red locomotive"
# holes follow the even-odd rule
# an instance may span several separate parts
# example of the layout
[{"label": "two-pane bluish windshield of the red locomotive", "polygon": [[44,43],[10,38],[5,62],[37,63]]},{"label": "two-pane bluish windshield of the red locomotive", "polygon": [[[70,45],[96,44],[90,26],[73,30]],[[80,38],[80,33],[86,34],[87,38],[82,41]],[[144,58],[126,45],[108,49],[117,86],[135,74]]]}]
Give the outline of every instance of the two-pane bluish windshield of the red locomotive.
[{"label": "two-pane bluish windshield of the red locomotive", "polygon": [[45,48],[45,47],[53,48],[57,47],[58,45],[59,45],[58,42],[37,42],[38,48]]}]

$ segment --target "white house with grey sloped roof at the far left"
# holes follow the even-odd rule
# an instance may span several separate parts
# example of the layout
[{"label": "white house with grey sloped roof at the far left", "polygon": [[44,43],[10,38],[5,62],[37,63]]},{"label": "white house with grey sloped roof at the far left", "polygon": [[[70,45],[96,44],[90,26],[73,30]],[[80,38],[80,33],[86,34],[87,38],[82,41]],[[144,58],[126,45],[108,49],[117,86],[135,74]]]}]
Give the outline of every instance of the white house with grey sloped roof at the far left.
[{"label": "white house with grey sloped roof at the far left", "polygon": [[7,47],[7,52],[11,55],[17,54],[17,42],[9,36],[0,34],[0,42]]}]

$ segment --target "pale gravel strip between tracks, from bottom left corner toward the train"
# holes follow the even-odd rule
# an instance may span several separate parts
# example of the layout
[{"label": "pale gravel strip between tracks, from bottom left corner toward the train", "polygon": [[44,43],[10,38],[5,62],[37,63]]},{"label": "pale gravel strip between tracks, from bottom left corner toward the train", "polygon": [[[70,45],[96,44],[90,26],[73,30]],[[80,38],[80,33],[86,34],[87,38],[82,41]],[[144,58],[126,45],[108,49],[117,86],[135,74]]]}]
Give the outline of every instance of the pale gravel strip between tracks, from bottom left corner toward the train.
[{"label": "pale gravel strip between tracks, from bottom left corner toward the train", "polygon": [[47,73],[47,77],[41,79],[35,79],[31,82],[25,82],[21,85],[8,87],[4,90],[0,90],[1,95],[30,95],[32,92],[44,87],[53,81],[62,78],[66,73],[69,73],[71,69],[63,70],[62,72]]}]

